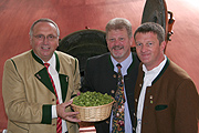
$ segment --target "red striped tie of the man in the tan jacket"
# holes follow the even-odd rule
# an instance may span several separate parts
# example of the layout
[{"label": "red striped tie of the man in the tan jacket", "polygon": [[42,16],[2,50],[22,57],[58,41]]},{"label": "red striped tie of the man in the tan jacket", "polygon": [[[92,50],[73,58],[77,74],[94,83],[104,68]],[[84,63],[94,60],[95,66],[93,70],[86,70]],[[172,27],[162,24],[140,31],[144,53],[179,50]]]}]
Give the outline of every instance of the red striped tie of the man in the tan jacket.
[{"label": "red striped tie of the man in the tan jacket", "polygon": [[[49,66],[50,66],[50,63],[44,63],[44,66],[48,70]],[[48,73],[49,73],[49,71],[48,71]],[[51,79],[51,83],[53,85],[53,89],[54,89],[54,92],[55,92],[55,95],[56,95],[56,104],[59,104],[56,89],[55,89],[54,81],[53,81],[53,79],[52,79],[50,73],[49,73],[49,78]],[[62,133],[62,119],[61,117],[57,117],[57,121],[56,121],[56,133]]]}]

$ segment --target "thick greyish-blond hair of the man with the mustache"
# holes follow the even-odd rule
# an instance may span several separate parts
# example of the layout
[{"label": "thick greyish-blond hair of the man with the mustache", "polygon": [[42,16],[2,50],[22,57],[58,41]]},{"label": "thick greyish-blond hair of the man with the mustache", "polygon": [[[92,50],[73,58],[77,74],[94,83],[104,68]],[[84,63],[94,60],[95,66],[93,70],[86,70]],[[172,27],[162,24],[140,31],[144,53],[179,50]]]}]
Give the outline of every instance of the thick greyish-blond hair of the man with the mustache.
[{"label": "thick greyish-blond hair of the man with the mustache", "polygon": [[106,35],[108,31],[111,30],[118,30],[118,29],[121,30],[123,28],[127,30],[128,38],[132,38],[133,35],[132,23],[127,19],[124,19],[124,18],[115,18],[115,19],[109,20],[109,22],[106,24]]}]

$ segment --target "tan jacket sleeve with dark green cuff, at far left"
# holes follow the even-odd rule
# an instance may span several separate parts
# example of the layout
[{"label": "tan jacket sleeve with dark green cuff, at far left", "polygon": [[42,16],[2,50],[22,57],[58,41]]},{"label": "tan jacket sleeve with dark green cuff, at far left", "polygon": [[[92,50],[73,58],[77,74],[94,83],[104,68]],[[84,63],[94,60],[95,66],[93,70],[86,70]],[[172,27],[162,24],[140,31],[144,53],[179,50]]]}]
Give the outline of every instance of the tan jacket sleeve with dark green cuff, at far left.
[{"label": "tan jacket sleeve with dark green cuff, at far left", "polygon": [[3,71],[2,95],[8,119],[22,123],[51,123],[51,105],[43,105],[36,101],[28,102],[25,90],[25,83],[18,72],[14,61],[7,60]]}]

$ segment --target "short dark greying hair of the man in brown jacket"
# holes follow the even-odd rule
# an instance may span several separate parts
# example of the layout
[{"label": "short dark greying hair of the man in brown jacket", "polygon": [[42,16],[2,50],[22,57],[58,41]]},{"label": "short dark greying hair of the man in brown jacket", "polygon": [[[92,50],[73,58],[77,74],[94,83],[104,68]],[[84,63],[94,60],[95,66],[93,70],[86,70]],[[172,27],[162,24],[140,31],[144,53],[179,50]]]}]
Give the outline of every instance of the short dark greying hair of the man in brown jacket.
[{"label": "short dark greying hair of the man in brown jacket", "polygon": [[134,39],[136,37],[137,33],[147,33],[147,32],[154,32],[155,34],[157,34],[157,39],[159,40],[159,44],[165,41],[165,30],[164,28],[155,22],[145,22],[143,24],[140,24],[137,30],[134,33]]}]

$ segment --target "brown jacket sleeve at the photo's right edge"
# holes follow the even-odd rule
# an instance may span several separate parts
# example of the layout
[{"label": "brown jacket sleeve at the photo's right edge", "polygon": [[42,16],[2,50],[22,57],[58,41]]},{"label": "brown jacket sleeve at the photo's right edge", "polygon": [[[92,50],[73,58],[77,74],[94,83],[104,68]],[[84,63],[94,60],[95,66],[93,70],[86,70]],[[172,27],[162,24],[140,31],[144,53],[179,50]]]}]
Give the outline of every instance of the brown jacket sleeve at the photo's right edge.
[{"label": "brown jacket sleeve at the photo's right edge", "polygon": [[186,79],[176,91],[175,131],[177,133],[197,133],[199,95],[193,82]]}]

